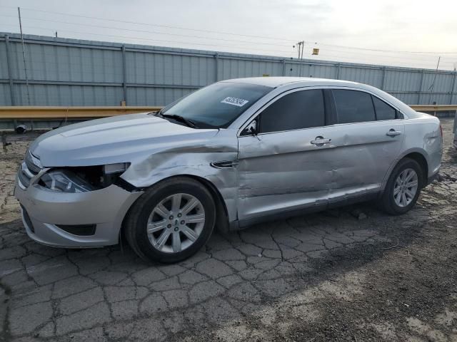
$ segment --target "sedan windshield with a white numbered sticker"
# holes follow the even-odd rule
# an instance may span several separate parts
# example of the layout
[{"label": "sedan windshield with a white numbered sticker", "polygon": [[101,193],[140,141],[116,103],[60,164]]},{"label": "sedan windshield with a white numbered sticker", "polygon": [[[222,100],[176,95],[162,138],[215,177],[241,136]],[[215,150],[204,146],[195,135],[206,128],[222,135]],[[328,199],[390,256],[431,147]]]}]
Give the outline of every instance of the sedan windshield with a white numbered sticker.
[{"label": "sedan windshield with a white numbered sticker", "polygon": [[246,83],[214,83],[172,103],[161,114],[179,115],[195,123],[196,128],[227,128],[272,89]]}]

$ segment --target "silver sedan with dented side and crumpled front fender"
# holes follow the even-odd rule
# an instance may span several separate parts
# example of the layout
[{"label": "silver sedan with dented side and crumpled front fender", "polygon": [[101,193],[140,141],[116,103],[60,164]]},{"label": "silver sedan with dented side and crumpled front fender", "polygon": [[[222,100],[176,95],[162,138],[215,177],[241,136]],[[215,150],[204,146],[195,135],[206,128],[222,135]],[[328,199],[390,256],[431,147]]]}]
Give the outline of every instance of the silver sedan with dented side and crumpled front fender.
[{"label": "silver sedan with dented side and crumpled front fender", "polygon": [[438,174],[442,141],[437,118],[371,86],[243,78],[158,113],[41,135],[15,195],[37,242],[100,247],[125,237],[140,257],[174,262],[214,227],[372,198],[403,214]]}]

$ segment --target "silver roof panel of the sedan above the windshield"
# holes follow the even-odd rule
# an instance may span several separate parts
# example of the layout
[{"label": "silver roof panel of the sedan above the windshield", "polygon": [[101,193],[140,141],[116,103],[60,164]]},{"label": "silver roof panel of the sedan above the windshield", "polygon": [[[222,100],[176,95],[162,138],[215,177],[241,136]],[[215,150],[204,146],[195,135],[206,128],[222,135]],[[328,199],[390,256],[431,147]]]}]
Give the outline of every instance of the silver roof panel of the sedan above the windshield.
[{"label": "silver roof panel of the sedan above the windshield", "polygon": [[329,78],[314,78],[314,77],[248,77],[248,78],[233,78],[231,80],[225,80],[221,82],[233,82],[233,83],[250,83],[258,86],[267,86],[277,88],[284,86],[288,83],[306,83],[307,86],[312,85],[326,85],[326,86],[364,86],[362,83],[356,83],[351,81],[332,80]]}]

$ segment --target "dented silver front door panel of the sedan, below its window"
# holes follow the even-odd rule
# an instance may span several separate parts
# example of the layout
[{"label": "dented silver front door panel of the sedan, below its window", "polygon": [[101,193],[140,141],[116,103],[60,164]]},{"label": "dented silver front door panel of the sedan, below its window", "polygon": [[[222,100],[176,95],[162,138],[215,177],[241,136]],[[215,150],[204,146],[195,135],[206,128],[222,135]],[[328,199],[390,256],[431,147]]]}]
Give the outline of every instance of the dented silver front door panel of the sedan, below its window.
[{"label": "dented silver front door panel of the sedan, below its window", "polygon": [[238,219],[326,204],[333,187],[331,127],[238,138]]}]

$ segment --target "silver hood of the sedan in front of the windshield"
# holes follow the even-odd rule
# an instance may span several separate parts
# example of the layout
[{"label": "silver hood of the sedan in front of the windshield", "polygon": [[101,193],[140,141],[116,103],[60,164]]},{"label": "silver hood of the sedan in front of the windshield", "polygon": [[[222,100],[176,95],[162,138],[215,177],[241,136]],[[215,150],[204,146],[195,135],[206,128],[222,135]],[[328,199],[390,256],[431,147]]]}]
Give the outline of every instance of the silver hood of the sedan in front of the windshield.
[{"label": "silver hood of the sedan in front of the windshield", "polygon": [[154,152],[207,145],[219,130],[197,130],[147,113],[89,120],[51,130],[30,147],[44,167],[132,162]]}]

